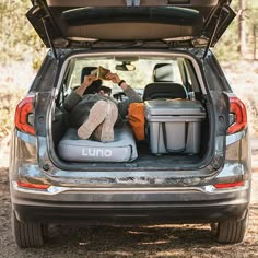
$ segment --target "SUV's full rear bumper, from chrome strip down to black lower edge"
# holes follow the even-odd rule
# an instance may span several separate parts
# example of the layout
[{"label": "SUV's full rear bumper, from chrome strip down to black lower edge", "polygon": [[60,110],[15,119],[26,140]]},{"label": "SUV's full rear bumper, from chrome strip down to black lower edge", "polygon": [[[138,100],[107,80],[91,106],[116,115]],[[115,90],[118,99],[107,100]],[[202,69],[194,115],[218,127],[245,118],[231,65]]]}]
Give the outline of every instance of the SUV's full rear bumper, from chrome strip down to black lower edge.
[{"label": "SUV's full rear bumper, from chrome strip down to black lower edge", "polygon": [[249,206],[249,184],[237,189],[204,192],[194,189],[63,191],[32,195],[12,188],[20,221],[86,224],[210,223],[242,219]]}]

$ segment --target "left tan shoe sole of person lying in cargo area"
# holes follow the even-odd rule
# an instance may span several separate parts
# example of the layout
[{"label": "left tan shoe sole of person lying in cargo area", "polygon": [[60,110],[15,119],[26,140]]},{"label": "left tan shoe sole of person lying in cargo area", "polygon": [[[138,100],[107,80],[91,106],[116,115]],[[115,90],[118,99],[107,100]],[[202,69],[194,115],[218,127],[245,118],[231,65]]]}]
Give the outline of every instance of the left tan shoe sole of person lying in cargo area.
[{"label": "left tan shoe sole of person lying in cargo area", "polygon": [[78,136],[81,139],[89,139],[93,131],[99,126],[107,117],[108,103],[105,101],[96,102],[85,122],[78,129]]}]

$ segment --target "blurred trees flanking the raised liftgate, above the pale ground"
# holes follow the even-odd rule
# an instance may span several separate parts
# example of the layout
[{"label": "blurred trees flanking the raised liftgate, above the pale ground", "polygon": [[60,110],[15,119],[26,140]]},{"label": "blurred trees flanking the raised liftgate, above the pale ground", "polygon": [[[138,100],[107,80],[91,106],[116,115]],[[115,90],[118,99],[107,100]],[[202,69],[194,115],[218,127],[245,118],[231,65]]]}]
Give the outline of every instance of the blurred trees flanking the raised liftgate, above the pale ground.
[{"label": "blurred trees flanking the raised liftgate, above the pale ground", "polygon": [[[0,2],[1,64],[26,60],[31,61],[33,68],[38,68],[46,49],[25,17],[30,7],[30,0],[1,0]],[[233,0],[232,7],[237,16],[215,48],[219,59],[258,58],[255,57],[257,47],[255,37],[258,37],[258,1]],[[242,57],[241,54],[247,56]]]}]

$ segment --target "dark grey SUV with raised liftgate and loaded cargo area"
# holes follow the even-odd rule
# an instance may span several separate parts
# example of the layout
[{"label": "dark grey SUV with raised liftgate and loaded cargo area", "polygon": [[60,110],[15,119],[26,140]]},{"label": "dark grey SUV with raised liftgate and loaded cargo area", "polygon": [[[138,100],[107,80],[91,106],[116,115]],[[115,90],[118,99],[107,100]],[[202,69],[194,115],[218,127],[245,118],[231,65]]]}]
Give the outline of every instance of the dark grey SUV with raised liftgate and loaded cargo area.
[{"label": "dark grey SUV with raised liftgate and loaded cargo area", "polygon": [[[231,1],[32,2],[27,19],[50,49],[15,112],[16,244],[40,246],[48,224],[70,222],[210,223],[219,243],[242,242],[247,115],[210,50],[235,16]],[[68,126],[63,103],[92,66],[117,70],[142,97],[143,140],[128,116],[109,143],[81,140]],[[128,102],[112,86],[117,103]]]}]

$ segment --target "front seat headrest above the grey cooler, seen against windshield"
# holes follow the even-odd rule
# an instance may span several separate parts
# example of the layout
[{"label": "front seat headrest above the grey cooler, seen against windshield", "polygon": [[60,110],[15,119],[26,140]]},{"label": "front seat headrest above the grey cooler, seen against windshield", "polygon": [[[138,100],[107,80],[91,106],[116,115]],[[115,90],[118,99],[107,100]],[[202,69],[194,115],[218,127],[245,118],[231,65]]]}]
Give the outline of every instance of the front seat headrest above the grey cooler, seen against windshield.
[{"label": "front seat headrest above the grey cooler, seen against windshield", "polygon": [[153,81],[154,82],[173,82],[174,72],[173,64],[171,63],[156,63],[153,69]]}]

